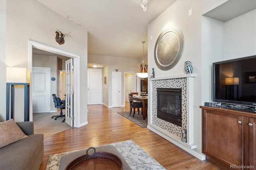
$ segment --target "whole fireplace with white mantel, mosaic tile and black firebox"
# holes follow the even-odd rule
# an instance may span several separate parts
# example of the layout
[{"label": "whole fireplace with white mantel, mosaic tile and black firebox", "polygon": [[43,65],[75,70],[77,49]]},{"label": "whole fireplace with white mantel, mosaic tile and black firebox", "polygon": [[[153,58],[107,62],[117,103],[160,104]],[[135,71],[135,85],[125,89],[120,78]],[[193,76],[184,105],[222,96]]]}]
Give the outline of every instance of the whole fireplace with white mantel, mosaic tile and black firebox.
[{"label": "whole fireplace with white mantel, mosaic tile and black firebox", "polygon": [[[197,147],[194,144],[194,77],[196,74],[149,79],[148,129],[188,152],[194,152]],[[187,132],[186,142],[181,140],[183,128]]]}]

